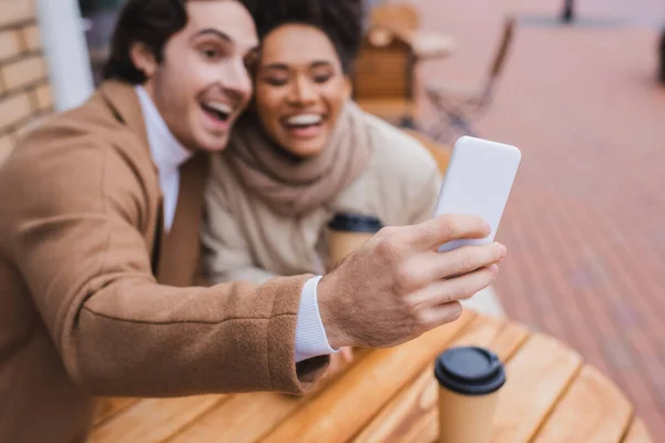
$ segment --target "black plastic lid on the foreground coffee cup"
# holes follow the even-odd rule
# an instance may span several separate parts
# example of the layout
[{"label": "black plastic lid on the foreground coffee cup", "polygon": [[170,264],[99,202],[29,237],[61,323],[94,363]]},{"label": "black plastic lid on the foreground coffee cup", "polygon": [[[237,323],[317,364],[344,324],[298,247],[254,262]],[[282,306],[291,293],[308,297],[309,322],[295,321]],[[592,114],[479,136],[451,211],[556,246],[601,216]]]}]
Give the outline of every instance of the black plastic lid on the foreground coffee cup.
[{"label": "black plastic lid on the foreground coffee cup", "polygon": [[441,353],[434,363],[439,383],[464,395],[485,395],[505,383],[505,371],[499,358],[477,347],[452,348]]}]

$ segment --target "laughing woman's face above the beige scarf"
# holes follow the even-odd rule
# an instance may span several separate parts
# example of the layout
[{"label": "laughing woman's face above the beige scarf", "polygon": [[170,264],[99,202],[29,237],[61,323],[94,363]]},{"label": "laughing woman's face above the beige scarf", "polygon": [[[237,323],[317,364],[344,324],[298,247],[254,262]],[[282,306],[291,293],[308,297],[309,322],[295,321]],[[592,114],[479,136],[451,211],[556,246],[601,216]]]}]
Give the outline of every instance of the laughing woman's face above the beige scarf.
[{"label": "laughing woman's face above the beige scarf", "polygon": [[256,74],[256,107],[266,134],[297,157],[320,153],[330,140],[350,81],[330,39],[306,24],[266,35]]}]

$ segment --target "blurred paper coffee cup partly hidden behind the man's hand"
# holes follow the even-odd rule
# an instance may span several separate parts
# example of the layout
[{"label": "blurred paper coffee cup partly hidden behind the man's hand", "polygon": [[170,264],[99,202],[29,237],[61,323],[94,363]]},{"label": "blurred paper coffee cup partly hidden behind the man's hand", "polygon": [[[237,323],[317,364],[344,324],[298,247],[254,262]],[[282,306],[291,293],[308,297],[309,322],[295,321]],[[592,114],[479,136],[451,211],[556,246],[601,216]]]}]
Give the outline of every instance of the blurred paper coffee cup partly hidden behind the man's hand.
[{"label": "blurred paper coffee cup partly hidden behind the man's hand", "polygon": [[383,226],[377,217],[360,214],[337,214],[328,223],[328,262],[335,266],[357,249]]}]

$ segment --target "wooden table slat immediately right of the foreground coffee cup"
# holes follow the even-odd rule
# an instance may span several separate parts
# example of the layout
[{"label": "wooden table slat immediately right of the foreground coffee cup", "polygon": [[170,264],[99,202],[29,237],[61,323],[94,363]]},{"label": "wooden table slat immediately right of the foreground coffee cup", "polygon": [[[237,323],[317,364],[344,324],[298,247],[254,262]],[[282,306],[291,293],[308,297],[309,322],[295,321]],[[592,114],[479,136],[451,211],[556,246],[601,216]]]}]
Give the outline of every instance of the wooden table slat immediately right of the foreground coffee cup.
[{"label": "wooden table slat immediately right of the foreground coffee cup", "polygon": [[581,365],[581,356],[557,340],[531,336],[507,364],[492,441],[530,441]]}]

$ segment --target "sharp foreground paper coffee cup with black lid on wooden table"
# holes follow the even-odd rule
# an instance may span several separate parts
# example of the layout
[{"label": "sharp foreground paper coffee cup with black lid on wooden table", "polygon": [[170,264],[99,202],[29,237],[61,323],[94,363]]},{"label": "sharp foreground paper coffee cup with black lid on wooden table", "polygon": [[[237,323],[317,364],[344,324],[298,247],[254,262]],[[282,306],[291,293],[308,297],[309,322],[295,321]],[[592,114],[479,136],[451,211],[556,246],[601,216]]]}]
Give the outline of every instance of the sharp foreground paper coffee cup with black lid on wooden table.
[{"label": "sharp foreground paper coffee cup with black lid on wooden table", "polygon": [[489,443],[505,371],[499,358],[477,347],[452,348],[434,363],[439,381],[439,442]]}]

